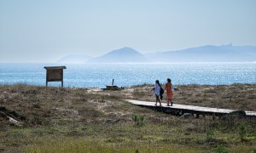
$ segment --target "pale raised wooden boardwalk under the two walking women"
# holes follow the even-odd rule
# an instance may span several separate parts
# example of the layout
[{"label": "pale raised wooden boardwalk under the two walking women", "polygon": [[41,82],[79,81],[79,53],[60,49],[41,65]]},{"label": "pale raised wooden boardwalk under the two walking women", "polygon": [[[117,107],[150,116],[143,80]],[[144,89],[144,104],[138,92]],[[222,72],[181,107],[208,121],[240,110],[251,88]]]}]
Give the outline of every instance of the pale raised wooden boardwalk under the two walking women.
[{"label": "pale raised wooden boardwalk under the two walking women", "polygon": [[[211,108],[211,107],[201,107],[195,105],[178,105],[173,104],[172,106],[167,106],[166,103],[162,103],[162,106],[155,106],[155,102],[148,102],[148,101],[139,101],[133,99],[126,99],[127,102],[133,105],[140,105],[143,107],[155,108],[160,111],[166,111],[175,114],[184,114],[184,113],[191,113],[192,115],[214,115],[214,116],[224,116],[232,111],[236,110],[229,110],[229,109],[218,109],[218,108]],[[256,116],[256,111],[245,111],[247,116]]]}]

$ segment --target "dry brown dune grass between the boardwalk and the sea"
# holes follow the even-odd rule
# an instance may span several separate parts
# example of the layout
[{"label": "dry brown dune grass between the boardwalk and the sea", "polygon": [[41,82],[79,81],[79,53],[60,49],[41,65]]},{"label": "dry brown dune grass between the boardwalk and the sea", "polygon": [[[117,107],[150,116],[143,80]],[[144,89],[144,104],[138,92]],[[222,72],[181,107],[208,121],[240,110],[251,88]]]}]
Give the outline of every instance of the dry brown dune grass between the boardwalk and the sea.
[{"label": "dry brown dune grass between the boardwalk and the sea", "polygon": [[[199,105],[225,109],[256,111],[256,84],[232,85],[177,85],[174,92],[174,103]],[[154,101],[150,90],[153,85],[134,86],[122,91],[126,99]],[[117,93],[118,94],[118,93]],[[165,96],[165,95],[164,95]],[[163,99],[165,102],[166,99]]]}]

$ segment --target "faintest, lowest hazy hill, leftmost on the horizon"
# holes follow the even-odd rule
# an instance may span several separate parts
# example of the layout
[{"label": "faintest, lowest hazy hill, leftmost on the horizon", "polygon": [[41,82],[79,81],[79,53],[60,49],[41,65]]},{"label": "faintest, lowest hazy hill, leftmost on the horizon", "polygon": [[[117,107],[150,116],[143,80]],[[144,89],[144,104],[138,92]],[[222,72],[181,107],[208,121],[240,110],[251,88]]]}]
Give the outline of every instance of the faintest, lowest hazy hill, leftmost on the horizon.
[{"label": "faintest, lowest hazy hill, leftmost on the horizon", "polygon": [[67,64],[82,64],[91,59],[90,56],[83,54],[69,54],[57,61],[57,63],[67,63]]}]

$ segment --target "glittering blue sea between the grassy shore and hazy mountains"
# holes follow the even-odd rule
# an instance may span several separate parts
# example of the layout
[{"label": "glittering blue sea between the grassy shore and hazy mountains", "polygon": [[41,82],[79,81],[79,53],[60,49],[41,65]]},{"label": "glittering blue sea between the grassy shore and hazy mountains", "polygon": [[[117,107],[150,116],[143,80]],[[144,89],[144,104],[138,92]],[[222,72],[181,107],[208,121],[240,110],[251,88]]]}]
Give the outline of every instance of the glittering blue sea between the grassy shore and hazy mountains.
[{"label": "glittering blue sea between the grassy shore and hazy mountains", "polygon": [[[45,85],[45,65],[0,64],[0,84],[27,83]],[[66,65],[65,87],[103,88],[111,84],[128,87],[154,83],[156,79],[173,84],[256,83],[256,63],[185,63],[185,64],[104,64]],[[49,82],[60,86],[60,82]]]}]

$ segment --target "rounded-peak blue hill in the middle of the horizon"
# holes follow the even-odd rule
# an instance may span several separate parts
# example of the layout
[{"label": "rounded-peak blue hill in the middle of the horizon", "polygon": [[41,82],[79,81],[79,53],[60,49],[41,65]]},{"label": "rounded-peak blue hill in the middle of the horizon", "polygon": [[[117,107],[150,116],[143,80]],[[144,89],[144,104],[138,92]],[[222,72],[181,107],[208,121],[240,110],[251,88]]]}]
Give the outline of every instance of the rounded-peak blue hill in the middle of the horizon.
[{"label": "rounded-peak blue hill in the middle of the horizon", "polygon": [[90,59],[92,63],[142,63],[148,59],[133,48],[119,48],[100,57]]}]

